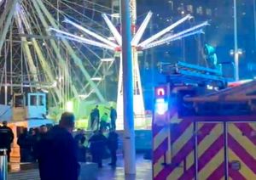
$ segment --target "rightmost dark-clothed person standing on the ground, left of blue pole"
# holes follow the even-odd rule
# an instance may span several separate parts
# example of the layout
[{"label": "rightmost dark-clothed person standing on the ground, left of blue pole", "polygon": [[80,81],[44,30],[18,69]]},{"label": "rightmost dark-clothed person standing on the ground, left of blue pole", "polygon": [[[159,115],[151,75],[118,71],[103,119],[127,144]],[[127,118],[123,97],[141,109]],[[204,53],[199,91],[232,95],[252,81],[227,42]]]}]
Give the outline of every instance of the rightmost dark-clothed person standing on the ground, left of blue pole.
[{"label": "rightmost dark-clothed person standing on the ground, left of blue pole", "polygon": [[116,151],[118,149],[118,139],[119,139],[119,135],[112,130],[111,132],[108,133],[108,149],[110,151],[110,155],[111,155],[111,162],[108,165],[111,166],[116,166]]}]

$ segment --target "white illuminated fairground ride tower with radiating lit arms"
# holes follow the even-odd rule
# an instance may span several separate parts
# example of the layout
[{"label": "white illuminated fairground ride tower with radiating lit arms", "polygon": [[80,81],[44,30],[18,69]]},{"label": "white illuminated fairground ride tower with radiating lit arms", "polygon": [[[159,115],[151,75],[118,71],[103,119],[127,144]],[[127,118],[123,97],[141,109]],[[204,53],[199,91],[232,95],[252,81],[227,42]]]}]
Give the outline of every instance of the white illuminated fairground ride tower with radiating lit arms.
[{"label": "white illuminated fairground ride tower with radiating lit arms", "polygon": [[[195,25],[190,27],[189,29],[179,31],[177,33],[172,33],[172,30],[177,27],[177,25],[181,25],[186,20],[190,20],[193,18],[190,14],[184,16],[181,20],[177,20],[177,22],[172,25],[167,26],[164,30],[159,31],[151,37],[148,37],[146,40],[141,42],[143,37],[143,33],[147,28],[148,22],[152,17],[152,12],[148,12],[145,20],[143,20],[142,25],[139,28],[136,28],[137,23],[137,14],[136,14],[136,1],[131,1],[131,32],[132,32],[132,58],[133,58],[133,98],[134,98],[134,120],[136,127],[144,127],[146,123],[145,118],[145,108],[143,102],[143,88],[141,83],[140,71],[138,66],[138,51],[143,51],[148,48],[154,48],[168,42],[172,42],[175,40],[179,40],[183,37],[189,37],[195,34],[203,33],[202,28],[208,25],[208,22],[202,22],[199,25]],[[108,50],[112,50],[115,53],[119,53],[120,63],[119,63],[119,82],[118,82],[118,98],[117,98],[117,129],[123,129],[123,82],[122,82],[122,59],[121,59],[121,47],[122,47],[122,37],[117,30],[117,28],[113,25],[112,21],[108,18],[107,14],[102,14],[102,18],[105,20],[108,25],[109,30],[113,34],[114,40],[110,41],[108,38],[102,37],[96,34],[94,31],[90,31],[83,26],[74,23],[72,20],[65,19],[63,22],[73,25],[78,28],[80,31],[83,31],[88,37],[79,37],[69,33],[67,31],[61,31],[56,28],[49,28],[49,31],[55,35],[56,37],[61,37],[64,39],[68,39],[75,42],[81,42],[88,45],[96,46],[98,48],[106,48]]]}]

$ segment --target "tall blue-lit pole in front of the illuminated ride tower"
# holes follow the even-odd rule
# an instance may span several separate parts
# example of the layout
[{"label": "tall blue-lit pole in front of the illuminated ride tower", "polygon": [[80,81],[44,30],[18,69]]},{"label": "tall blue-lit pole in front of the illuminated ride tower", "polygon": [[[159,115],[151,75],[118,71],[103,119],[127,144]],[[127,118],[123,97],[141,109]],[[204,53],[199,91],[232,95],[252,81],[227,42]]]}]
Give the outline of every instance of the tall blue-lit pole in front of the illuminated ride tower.
[{"label": "tall blue-lit pole in front of the illuminated ride tower", "polygon": [[125,174],[136,174],[130,1],[120,0],[123,59]]}]

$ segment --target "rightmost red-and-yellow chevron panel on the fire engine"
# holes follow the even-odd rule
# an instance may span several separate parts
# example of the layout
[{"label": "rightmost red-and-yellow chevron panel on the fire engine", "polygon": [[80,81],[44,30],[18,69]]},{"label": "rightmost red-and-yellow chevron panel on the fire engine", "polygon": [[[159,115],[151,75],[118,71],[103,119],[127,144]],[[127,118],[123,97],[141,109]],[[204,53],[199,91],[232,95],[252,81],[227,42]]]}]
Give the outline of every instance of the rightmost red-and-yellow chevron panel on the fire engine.
[{"label": "rightmost red-and-yellow chevron panel on the fire engine", "polygon": [[229,162],[236,160],[240,169],[230,165],[229,176],[234,179],[256,179],[256,137],[252,136],[256,123],[229,124]]}]

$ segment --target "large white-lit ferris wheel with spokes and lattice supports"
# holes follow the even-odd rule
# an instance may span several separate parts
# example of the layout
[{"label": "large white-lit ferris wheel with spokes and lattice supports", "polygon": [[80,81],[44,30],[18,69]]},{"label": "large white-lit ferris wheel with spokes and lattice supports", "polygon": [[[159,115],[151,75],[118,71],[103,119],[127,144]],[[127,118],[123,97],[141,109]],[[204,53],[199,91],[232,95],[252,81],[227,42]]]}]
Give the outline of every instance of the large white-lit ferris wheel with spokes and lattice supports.
[{"label": "large white-lit ferris wheel with spokes and lattice supports", "polygon": [[[49,28],[86,37],[62,22],[68,18],[109,38],[108,28],[96,19],[102,13],[115,13],[112,8],[86,0],[2,0],[1,5],[0,82],[5,93],[44,91],[53,105],[71,98],[108,100],[104,87],[107,92],[109,82],[117,82],[115,54],[52,36]],[[8,101],[7,97],[5,103]]]}]

